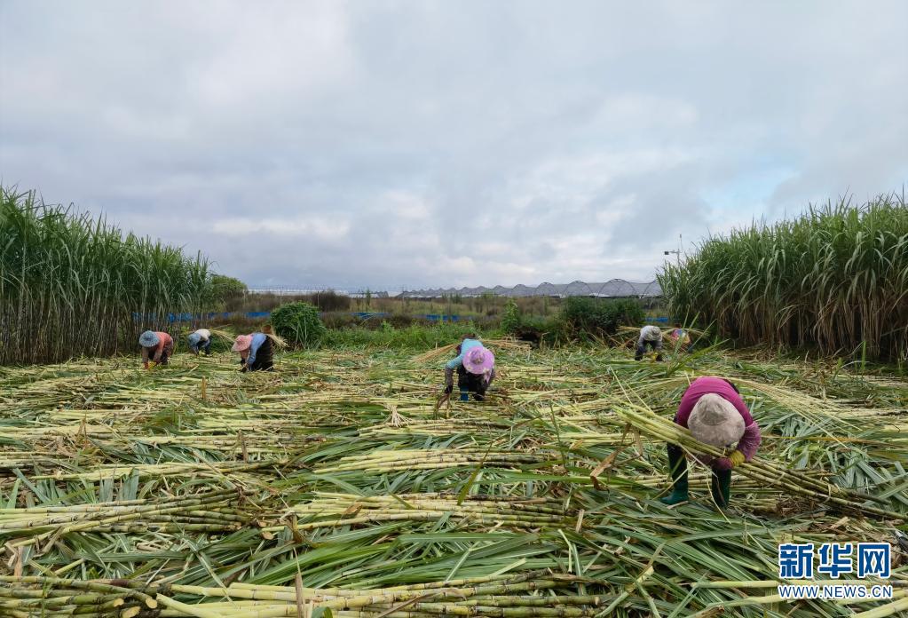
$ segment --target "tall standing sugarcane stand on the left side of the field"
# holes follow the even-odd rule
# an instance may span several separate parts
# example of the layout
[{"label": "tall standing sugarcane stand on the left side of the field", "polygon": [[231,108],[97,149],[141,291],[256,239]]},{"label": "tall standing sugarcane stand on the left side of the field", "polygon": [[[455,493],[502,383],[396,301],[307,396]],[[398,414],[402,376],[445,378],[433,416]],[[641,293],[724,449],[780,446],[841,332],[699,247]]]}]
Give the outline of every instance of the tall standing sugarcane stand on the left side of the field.
[{"label": "tall standing sugarcane stand on the left side of the field", "polygon": [[208,279],[201,254],[0,187],[0,364],[133,350],[168,314],[201,312]]}]

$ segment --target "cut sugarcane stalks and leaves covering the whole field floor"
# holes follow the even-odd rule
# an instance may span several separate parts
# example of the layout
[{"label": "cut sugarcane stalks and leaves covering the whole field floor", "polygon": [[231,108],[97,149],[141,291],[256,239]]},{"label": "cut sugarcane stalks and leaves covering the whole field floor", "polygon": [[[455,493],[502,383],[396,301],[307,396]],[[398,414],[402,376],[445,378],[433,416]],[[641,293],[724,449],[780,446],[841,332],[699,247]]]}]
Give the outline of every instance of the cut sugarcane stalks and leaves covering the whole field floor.
[{"label": "cut sugarcane stalks and leaves covering the whole field floor", "polygon": [[[908,612],[897,375],[497,343],[482,404],[436,405],[452,347],[279,354],[273,374],[227,354],[0,368],[0,615]],[[764,442],[725,512],[694,460],[666,507],[666,441],[718,454],[671,422],[707,374]],[[783,602],[793,541],[892,543],[893,599]]]}]

